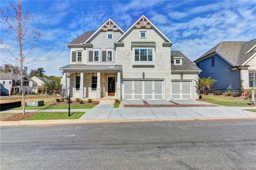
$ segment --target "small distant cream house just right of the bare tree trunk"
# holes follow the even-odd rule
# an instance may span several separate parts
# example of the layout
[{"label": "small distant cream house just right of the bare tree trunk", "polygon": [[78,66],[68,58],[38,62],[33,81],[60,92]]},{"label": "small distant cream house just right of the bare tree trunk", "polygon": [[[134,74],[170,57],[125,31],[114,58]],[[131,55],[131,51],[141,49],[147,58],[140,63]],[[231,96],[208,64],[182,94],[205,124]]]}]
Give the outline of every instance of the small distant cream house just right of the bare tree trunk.
[{"label": "small distant cream house just right of the bare tree trunk", "polygon": [[32,76],[32,78],[30,78],[30,87],[32,88],[32,92],[35,94],[42,94],[45,91],[44,83],[46,81],[46,78],[40,76]]}]

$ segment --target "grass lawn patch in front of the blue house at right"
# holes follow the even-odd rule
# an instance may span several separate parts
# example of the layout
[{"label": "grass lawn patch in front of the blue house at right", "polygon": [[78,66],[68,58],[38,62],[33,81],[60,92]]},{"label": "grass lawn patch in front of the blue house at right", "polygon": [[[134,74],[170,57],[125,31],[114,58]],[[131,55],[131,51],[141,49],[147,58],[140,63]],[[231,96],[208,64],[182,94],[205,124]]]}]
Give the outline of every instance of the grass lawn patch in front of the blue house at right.
[{"label": "grass lawn patch in front of the blue house at right", "polygon": [[203,98],[204,101],[218,104],[218,105],[224,105],[224,106],[230,106],[230,107],[246,107],[250,104],[250,99],[238,99],[237,97],[226,97],[226,96],[214,96],[214,95],[206,95],[205,98]]}]

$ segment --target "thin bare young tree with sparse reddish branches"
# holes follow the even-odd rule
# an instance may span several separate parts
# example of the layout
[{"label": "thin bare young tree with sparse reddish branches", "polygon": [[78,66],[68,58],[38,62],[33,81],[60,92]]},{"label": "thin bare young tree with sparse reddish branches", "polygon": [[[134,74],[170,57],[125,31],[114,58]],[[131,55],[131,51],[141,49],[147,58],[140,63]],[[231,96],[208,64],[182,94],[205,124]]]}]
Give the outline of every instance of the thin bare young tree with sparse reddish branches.
[{"label": "thin bare young tree with sparse reddish branches", "polygon": [[[20,90],[22,91],[23,114],[25,114],[23,87],[24,65],[26,65],[28,56],[32,53],[41,33],[39,32],[39,28],[33,28],[32,25],[29,25],[32,21],[32,15],[22,9],[21,0],[18,0],[18,3],[10,2],[10,7],[0,8],[0,12],[3,17],[1,22],[7,25],[7,31],[10,32],[9,37],[13,36],[15,40],[15,44],[12,45],[16,49],[6,48],[6,50],[13,56],[12,61],[20,67],[20,74],[18,76]],[[1,39],[0,42],[6,45],[4,40]]]}]

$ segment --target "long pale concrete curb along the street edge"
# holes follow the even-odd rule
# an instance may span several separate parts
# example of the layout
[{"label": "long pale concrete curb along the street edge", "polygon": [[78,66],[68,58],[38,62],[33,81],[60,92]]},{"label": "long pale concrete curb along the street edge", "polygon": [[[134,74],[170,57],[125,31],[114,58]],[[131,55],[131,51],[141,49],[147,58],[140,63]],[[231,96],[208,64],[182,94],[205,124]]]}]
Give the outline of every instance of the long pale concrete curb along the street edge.
[{"label": "long pale concrete curb along the street edge", "polygon": [[61,124],[94,124],[94,123],[129,123],[129,122],[160,122],[160,121],[195,121],[195,120],[241,120],[256,119],[256,116],[243,117],[208,117],[208,118],[172,118],[172,119],[130,119],[130,120],[35,120],[35,121],[0,121],[1,126],[22,125],[61,125]]}]

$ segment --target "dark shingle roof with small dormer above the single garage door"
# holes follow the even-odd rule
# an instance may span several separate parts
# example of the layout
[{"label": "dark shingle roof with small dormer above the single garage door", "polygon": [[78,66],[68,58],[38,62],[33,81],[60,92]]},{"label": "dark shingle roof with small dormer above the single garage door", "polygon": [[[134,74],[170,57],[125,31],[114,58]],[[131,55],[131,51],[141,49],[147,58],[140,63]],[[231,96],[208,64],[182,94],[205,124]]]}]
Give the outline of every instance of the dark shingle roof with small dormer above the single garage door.
[{"label": "dark shingle roof with small dormer above the single garage door", "polygon": [[[182,65],[174,65],[173,57],[183,57]],[[201,71],[188,57],[180,51],[171,51],[171,70],[172,71]]]}]

